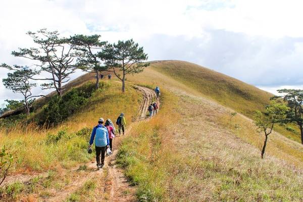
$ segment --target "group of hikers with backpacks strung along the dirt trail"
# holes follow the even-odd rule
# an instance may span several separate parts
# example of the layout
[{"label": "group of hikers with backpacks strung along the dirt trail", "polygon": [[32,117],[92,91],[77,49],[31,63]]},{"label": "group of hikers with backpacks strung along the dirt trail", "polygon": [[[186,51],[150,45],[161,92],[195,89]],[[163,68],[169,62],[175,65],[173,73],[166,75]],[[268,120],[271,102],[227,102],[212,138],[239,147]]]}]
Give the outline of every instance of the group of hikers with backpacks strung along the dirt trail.
[{"label": "group of hikers with backpacks strung along the dirt trail", "polygon": [[[110,79],[110,78],[109,78]],[[155,89],[155,93],[157,97],[160,96],[160,88],[157,86]],[[151,103],[148,107],[149,117],[153,116],[153,114],[157,114],[158,104],[156,102]],[[116,125],[118,125],[119,135],[125,134],[126,128],[126,120],[124,113],[121,113],[117,118]],[[113,152],[113,140],[116,136],[116,128],[113,122],[110,119],[107,119],[104,123],[103,118],[99,118],[98,125],[96,125],[92,129],[92,133],[89,140],[88,153],[92,153],[91,146],[93,142],[95,143],[95,151],[96,151],[96,163],[97,169],[99,170],[104,166],[105,155],[111,155]],[[101,156],[101,158],[100,158]]]}]

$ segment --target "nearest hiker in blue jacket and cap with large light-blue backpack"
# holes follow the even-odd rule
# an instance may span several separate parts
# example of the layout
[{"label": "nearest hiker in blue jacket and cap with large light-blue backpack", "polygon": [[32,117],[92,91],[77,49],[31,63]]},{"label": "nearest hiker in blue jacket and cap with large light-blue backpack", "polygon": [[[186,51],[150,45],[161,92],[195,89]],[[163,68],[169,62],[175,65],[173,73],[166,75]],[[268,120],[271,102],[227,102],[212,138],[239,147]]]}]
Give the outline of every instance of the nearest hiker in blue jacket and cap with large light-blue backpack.
[{"label": "nearest hiker in blue jacket and cap with large light-blue backpack", "polygon": [[[93,128],[89,140],[89,147],[91,147],[93,140],[95,140],[96,162],[97,162],[98,170],[104,166],[105,151],[110,144],[108,129],[105,126],[103,126],[103,123],[104,123],[104,119],[100,118],[98,121],[98,125]],[[100,162],[100,154],[101,154],[101,162]]]}]

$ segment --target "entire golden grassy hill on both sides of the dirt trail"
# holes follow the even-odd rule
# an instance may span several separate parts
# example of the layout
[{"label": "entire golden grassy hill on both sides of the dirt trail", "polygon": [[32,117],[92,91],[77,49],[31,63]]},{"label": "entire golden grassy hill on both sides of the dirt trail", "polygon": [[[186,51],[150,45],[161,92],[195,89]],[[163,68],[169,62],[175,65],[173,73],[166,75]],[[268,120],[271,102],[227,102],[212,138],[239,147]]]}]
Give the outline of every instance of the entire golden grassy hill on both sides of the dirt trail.
[{"label": "entire golden grassy hill on both sides of the dirt trail", "polygon": [[[69,85],[81,86],[92,79],[92,74],[86,74]],[[182,61],[151,62],[144,72],[127,77],[125,94],[120,92],[120,83],[106,81],[106,84],[106,89],[96,91],[87,105],[55,128],[0,132],[0,144],[10,146],[17,156],[15,174],[48,172],[30,192],[24,188],[29,185],[21,183],[9,187],[13,192],[0,189],[0,195],[5,193],[12,200],[29,194],[47,198],[49,190],[60,191],[75,176],[92,172],[86,170],[81,174],[66,169],[90,160],[85,138],[100,116],[115,120],[120,112],[125,112],[129,121],[136,116],[141,93],[130,85],[138,84],[160,86],[162,90],[160,113],[153,119],[131,123],[119,147],[117,164],[129,183],[136,185],[139,201],[301,201],[303,198],[303,146],[292,140],[296,140],[297,134],[276,127],[282,134],[271,134],[265,159],[260,158],[264,137],[256,132],[249,118],[255,110],[263,109],[272,94]],[[234,111],[241,114],[230,122],[230,113]],[[60,139],[54,143],[58,136]],[[105,169],[104,176],[110,169]],[[95,186],[90,189],[89,193],[97,194],[105,190]],[[129,190],[123,192],[127,195]],[[66,200],[80,201],[72,195]]]}]

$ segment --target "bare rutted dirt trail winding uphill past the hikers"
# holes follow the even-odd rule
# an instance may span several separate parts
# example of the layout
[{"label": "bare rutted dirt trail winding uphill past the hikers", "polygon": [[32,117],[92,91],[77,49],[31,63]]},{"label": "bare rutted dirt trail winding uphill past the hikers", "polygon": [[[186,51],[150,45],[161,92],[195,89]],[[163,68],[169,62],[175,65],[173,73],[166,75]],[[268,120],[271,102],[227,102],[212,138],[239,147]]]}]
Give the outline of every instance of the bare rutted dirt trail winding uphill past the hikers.
[{"label": "bare rutted dirt trail winding uphill past the hikers", "polygon": [[[143,100],[139,108],[137,121],[142,121],[146,118],[147,108],[153,97],[155,97],[155,93],[153,90],[136,86],[138,90],[140,90],[143,94]],[[159,102],[158,102],[159,103]],[[130,131],[131,125],[127,128],[126,134]],[[135,197],[135,187],[129,186],[126,177],[124,176],[121,169],[117,168],[115,165],[116,155],[118,150],[115,150],[115,146],[119,145],[121,141],[121,137],[117,137],[114,140],[114,152],[112,157],[107,157],[105,159],[105,166],[103,169],[96,171],[96,164],[95,162],[88,162],[86,163],[86,167],[88,170],[91,170],[86,176],[79,177],[75,179],[71,184],[65,186],[64,189],[60,192],[53,193],[53,197],[45,198],[43,201],[63,201],[65,200],[71,193],[76,191],[79,187],[83,185],[83,183],[89,179],[96,178],[100,176],[99,172],[103,172],[107,170],[107,175],[105,176],[105,186],[100,187],[104,189],[103,199],[110,200],[110,201],[136,201]],[[77,170],[78,167],[73,168]]]}]

